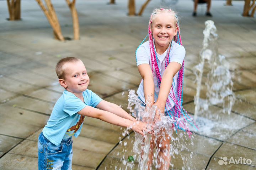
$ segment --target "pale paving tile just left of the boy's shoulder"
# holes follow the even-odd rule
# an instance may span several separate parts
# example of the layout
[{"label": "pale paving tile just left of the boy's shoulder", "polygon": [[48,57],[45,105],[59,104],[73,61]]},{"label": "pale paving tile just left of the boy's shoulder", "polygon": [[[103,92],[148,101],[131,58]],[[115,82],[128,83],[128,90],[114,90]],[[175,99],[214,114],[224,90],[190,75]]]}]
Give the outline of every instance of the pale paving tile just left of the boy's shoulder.
[{"label": "pale paving tile just left of the boy's shoulder", "polygon": [[47,89],[39,89],[26,95],[55,103],[62,94]]}]

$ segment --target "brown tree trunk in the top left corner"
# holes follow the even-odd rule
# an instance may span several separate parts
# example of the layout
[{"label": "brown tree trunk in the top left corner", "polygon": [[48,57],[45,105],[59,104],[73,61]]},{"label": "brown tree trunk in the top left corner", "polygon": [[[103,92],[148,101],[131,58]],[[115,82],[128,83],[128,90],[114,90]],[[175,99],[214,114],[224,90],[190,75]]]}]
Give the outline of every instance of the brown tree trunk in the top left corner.
[{"label": "brown tree trunk in the top left corner", "polygon": [[20,0],[7,0],[8,11],[9,11],[9,20],[15,21],[21,19],[21,1]]}]

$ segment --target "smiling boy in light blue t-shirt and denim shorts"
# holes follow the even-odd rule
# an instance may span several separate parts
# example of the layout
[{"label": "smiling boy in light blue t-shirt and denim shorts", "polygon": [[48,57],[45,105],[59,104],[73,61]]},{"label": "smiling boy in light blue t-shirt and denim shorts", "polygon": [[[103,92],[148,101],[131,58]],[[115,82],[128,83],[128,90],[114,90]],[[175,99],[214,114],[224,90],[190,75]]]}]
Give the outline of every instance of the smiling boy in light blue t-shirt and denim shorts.
[{"label": "smiling boy in light blue t-shirt and denim shorts", "polygon": [[136,121],[116,104],[102,100],[87,89],[90,79],[81,60],[75,57],[61,59],[56,65],[56,73],[65,91],[55,103],[47,125],[38,137],[39,170],[71,169],[72,136],[80,134],[85,116],[132,127],[144,135],[143,131],[147,130],[145,123]]}]

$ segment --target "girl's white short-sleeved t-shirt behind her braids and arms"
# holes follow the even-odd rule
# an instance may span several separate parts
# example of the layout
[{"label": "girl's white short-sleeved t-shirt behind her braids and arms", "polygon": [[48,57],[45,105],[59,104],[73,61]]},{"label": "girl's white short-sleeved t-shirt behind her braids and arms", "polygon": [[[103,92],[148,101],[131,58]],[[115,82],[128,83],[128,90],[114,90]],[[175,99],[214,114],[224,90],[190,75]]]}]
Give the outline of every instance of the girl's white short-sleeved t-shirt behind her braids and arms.
[{"label": "girl's white short-sleeved t-shirt behind her braids and arms", "polygon": [[[159,55],[156,53],[157,58],[158,58],[158,64],[159,64],[159,71],[162,75],[164,74],[165,71],[165,58],[166,58],[167,50]],[[181,64],[182,68],[182,62],[185,58],[185,48],[182,45],[177,44],[175,41],[172,41],[172,47],[170,51],[170,62],[177,62]],[[149,47],[149,41],[144,42],[137,50],[136,53],[137,57],[137,66],[140,64],[149,64],[151,67],[151,55],[150,55],[150,47]],[[152,69],[152,67],[151,67]],[[153,76],[154,76],[154,86],[155,86],[155,101],[158,98],[160,88],[158,87],[158,80],[155,74],[155,69],[153,70]],[[174,87],[174,93],[177,92],[177,79],[178,79],[178,73],[175,74],[174,76],[174,81],[172,82],[172,86]],[[171,94],[172,90],[170,90]],[[143,90],[143,80],[140,82],[139,88],[137,90],[137,94],[139,95],[140,99],[145,103],[145,97],[144,97],[144,90]],[[176,94],[174,95],[176,96]],[[171,108],[174,107],[174,102],[172,101],[171,97],[169,97],[169,101],[171,103]],[[169,111],[171,108],[168,106],[168,104],[165,105],[165,111]]]}]

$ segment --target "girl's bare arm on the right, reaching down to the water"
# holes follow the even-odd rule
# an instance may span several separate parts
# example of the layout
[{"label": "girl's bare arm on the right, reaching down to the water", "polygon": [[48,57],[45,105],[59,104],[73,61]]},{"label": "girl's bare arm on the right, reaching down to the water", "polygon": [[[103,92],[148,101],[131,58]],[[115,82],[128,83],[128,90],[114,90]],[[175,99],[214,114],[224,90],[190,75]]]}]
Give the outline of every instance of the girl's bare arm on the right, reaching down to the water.
[{"label": "girl's bare arm on the right, reaching down to the water", "polygon": [[[158,99],[155,102],[154,105],[158,107],[161,114],[164,114],[165,109],[165,103],[167,100],[167,97],[170,93],[171,86],[172,86],[172,79],[174,75],[180,70],[181,64],[177,62],[170,62],[168,66],[166,67],[164,74],[162,76],[162,81],[160,85],[160,91],[158,95]],[[160,119],[161,115],[158,111],[156,111],[156,119]]]}]

